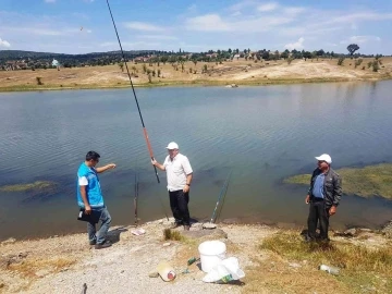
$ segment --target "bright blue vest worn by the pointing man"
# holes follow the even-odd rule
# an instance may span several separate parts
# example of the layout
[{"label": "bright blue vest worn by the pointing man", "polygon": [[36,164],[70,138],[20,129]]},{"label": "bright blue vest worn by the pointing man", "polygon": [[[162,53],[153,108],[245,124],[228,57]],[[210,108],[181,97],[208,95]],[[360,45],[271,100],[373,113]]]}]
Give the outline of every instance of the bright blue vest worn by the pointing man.
[{"label": "bright blue vest worn by the pointing man", "polygon": [[[87,181],[86,181],[87,180]],[[81,182],[86,186],[87,200],[91,208],[105,207],[103,196],[99,184],[99,177],[96,169],[89,168],[83,162],[77,170],[77,205],[85,207],[81,195]],[[87,183],[86,183],[87,182]]]}]

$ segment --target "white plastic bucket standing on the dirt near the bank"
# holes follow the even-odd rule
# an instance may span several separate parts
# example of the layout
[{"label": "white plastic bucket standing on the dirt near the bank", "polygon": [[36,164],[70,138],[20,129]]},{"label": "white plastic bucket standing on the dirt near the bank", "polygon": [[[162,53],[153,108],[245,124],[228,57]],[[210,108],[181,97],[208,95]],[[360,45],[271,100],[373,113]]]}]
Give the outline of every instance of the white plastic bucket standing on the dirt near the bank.
[{"label": "white plastic bucket standing on the dirt near the bank", "polygon": [[215,266],[222,262],[225,258],[226,247],[220,241],[206,241],[198,247],[201,261],[201,270],[209,272]]}]

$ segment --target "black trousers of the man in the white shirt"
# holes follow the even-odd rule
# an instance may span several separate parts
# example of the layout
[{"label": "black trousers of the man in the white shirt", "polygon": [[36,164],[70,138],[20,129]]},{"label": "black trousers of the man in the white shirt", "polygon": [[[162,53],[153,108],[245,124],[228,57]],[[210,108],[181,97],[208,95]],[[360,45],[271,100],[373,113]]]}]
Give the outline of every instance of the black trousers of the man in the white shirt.
[{"label": "black trousers of the man in the white shirt", "polygon": [[175,222],[184,225],[191,224],[189,210],[187,205],[189,203],[189,193],[184,193],[182,189],[169,191],[170,208],[173,212]]}]

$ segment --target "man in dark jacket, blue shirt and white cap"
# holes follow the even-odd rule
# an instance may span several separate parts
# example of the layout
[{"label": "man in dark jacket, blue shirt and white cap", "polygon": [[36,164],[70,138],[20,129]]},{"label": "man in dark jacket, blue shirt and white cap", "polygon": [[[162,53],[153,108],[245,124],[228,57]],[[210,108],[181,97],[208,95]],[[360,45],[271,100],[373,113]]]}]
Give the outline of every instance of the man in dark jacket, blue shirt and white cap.
[{"label": "man in dark jacket, blue shirt and white cap", "polygon": [[320,240],[329,241],[329,218],[336,213],[336,207],[342,197],[342,180],[332,170],[332,159],[329,155],[316,157],[317,169],[313,172],[310,187],[305,203],[309,204],[307,241],[316,240],[317,223],[320,226]]}]

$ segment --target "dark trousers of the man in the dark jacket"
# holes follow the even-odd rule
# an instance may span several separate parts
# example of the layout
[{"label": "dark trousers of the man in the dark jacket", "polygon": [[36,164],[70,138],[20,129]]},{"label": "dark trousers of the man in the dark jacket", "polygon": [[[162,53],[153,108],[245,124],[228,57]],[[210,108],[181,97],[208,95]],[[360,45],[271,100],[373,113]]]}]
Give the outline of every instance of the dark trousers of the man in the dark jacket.
[{"label": "dark trousers of the man in the dark jacket", "polygon": [[316,240],[317,222],[320,226],[320,240],[328,240],[329,208],[323,199],[313,198],[309,204],[308,236]]}]

